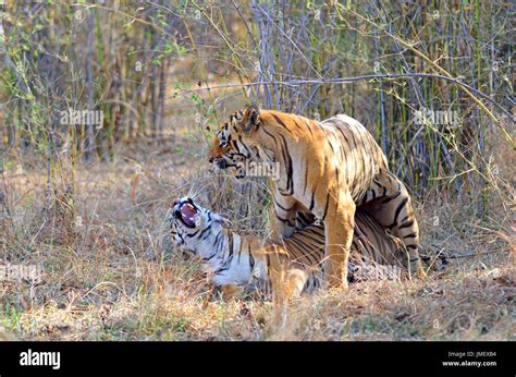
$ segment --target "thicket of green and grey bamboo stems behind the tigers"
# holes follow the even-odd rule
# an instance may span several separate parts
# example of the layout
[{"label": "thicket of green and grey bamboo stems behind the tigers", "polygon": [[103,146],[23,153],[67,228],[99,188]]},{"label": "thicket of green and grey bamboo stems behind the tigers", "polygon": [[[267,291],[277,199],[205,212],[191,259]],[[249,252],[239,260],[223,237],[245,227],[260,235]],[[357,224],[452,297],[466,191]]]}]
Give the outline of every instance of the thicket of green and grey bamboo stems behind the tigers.
[{"label": "thicket of green and grey bamboo stems behind the tigers", "polygon": [[[110,159],[115,143],[176,132],[163,119],[176,102],[192,105],[182,115],[194,124],[199,114],[218,124],[234,110],[224,98],[237,96],[238,104],[316,119],[347,112],[373,132],[416,195],[437,188],[463,198],[481,190],[486,207],[497,179],[488,135],[506,126],[491,104],[432,77],[311,80],[447,73],[511,111],[506,2],[251,3],[7,5],[0,99],[12,127],[3,139],[53,154],[72,137],[75,158]],[[267,84],[238,87],[257,82]],[[231,89],[210,90],[225,85]],[[57,109],[67,108],[102,111],[103,127],[60,124]],[[458,123],[418,122],[417,111],[453,114]],[[192,130],[207,137],[205,127]]]}]

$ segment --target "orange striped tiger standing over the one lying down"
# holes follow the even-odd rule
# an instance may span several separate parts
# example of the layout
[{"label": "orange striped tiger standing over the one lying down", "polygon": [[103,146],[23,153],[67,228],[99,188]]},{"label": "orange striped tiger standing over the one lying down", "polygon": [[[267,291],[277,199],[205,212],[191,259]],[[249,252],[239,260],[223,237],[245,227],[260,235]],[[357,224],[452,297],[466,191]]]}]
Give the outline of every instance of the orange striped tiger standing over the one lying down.
[{"label": "orange striped tiger standing over the one lying down", "polygon": [[340,114],[318,122],[249,106],[230,115],[210,149],[210,162],[219,169],[230,168],[237,179],[246,175],[248,161],[280,166],[280,179],[271,183],[274,241],[294,233],[298,211],[311,212],[324,226],[324,272],[330,285],[347,287],[344,266],[355,209],[364,204],[382,227],[403,241],[409,273],[426,276],[410,196],[389,171],[372,135],[355,119]]}]

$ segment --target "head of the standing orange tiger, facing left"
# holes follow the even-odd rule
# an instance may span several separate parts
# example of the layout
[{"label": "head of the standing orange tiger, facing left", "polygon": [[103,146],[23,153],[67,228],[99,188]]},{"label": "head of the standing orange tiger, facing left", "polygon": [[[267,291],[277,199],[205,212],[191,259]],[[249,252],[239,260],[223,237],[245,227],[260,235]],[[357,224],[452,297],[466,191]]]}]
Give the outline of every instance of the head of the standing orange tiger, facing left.
[{"label": "head of the standing orange tiger, facing left", "polygon": [[229,169],[236,179],[245,178],[246,162],[260,158],[259,148],[253,139],[260,122],[260,108],[256,105],[231,114],[213,139],[210,163],[217,169]]}]

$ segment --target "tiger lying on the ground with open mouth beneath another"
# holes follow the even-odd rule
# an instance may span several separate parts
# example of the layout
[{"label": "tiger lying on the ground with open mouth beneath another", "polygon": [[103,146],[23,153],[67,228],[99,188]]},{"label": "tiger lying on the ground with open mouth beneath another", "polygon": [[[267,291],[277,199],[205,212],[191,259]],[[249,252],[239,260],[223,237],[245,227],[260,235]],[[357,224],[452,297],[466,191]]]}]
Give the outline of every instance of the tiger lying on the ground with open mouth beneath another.
[{"label": "tiger lying on the ground with open mouth beneath another", "polygon": [[[352,243],[355,266],[382,264],[406,266],[406,252],[398,239],[391,238],[369,215],[357,211]],[[241,235],[222,226],[222,217],[189,197],[174,199],[169,217],[174,241],[204,260],[204,271],[223,296],[232,297],[256,289],[270,290],[271,279],[283,273],[292,295],[321,285],[324,231],[307,226],[284,244],[263,242],[255,235]],[[349,264],[352,266],[352,264]],[[354,268],[351,268],[352,270]],[[394,268],[395,270],[396,268]]]}]

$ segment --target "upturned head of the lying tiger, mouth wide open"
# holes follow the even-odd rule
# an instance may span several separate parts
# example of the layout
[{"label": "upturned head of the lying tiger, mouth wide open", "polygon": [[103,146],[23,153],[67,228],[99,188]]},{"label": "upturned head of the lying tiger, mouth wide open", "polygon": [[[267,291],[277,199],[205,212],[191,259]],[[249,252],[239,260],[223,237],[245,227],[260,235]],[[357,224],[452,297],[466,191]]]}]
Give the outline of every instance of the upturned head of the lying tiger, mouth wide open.
[{"label": "upturned head of the lying tiger, mouth wide open", "polygon": [[194,254],[205,256],[213,244],[217,234],[222,230],[222,217],[199,206],[191,197],[174,199],[169,216],[174,242],[185,246]]}]

